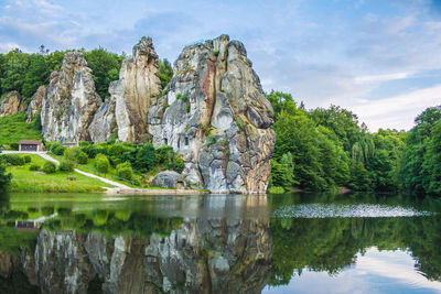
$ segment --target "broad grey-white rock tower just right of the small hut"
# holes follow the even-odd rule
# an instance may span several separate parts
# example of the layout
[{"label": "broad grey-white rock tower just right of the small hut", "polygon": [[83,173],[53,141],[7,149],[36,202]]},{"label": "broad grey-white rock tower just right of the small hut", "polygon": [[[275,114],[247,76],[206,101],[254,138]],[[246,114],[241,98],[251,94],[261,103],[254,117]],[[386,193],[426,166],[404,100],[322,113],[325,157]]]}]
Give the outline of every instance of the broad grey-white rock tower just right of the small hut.
[{"label": "broad grey-white rock tower just right of the small hut", "polygon": [[79,52],[64,55],[63,65],[51,74],[41,111],[42,134],[46,141],[89,140],[88,128],[101,99],[95,91],[92,70]]}]

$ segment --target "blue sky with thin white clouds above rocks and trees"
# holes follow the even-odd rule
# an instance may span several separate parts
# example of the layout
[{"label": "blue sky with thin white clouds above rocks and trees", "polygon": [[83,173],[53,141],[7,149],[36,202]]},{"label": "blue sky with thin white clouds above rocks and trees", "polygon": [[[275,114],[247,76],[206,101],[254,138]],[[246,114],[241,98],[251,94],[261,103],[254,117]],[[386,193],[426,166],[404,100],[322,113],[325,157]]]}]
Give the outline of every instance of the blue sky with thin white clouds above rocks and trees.
[{"label": "blue sky with thin white clouds above rocks and trees", "polygon": [[441,105],[441,0],[0,0],[0,52],[104,47],[151,36],[174,62],[189,44],[243,42],[265,91],[337,105],[370,131],[409,130]]}]

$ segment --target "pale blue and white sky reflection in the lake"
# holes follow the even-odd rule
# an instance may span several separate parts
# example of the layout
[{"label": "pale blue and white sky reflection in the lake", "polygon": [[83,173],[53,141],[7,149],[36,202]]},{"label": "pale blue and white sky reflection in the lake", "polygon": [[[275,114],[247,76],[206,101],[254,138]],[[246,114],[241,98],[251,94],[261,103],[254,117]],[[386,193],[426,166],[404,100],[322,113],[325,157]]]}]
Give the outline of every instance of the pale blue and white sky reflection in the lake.
[{"label": "pale blue and white sky reflection in the lake", "polygon": [[427,280],[413,265],[408,252],[369,248],[357,255],[355,266],[335,276],[303,271],[288,285],[267,286],[262,293],[441,293],[441,282]]}]

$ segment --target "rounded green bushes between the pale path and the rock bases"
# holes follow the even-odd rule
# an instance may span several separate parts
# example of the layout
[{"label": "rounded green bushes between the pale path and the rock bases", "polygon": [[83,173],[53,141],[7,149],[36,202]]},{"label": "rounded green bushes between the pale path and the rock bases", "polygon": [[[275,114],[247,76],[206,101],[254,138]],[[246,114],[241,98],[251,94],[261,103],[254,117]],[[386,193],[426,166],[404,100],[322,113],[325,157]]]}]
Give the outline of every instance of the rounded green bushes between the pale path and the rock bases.
[{"label": "rounded green bushes between the pale path and the rock bases", "polygon": [[182,173],[184,161],[172,146],[153,148],[151,143],[80,142],[79,148],[64,148],[61,143],[46,143],[57,160],[88,173],[131,187],[151,188],[152,176],[171,170]]}]

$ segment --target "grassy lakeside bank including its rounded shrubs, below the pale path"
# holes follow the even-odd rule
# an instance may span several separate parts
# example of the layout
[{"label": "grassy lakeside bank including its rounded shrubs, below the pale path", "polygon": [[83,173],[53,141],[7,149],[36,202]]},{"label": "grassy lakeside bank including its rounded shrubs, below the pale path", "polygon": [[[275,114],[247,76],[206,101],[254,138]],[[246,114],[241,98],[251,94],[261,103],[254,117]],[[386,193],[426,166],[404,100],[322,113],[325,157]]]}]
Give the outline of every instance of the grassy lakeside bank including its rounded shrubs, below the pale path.
[{"label": "grassy lakeside bank including its rounded shrubs, below the pale path", "polygon": [[[28,157],[28,159],[24,159]],[[12,160],[11,160],[12,159]],[[20,193],[96,193],[104,192],[104,187],[112,187],[99,179],[90,178],[78,173],[60,171],[53,163],[40,157],[39,155],[0,155],[0,187],[2,174],[12,176],[8,179],[10,192]],[[11,161],[13,161],[11,163]],[[9,166],[4,168],[4,163]],[[2,167],[3,173],[1,172]],[[53,166],[53,171],[47,171],[46,166]],[[49,167],[51,168],[51,167]],[[75,175],[75,181],[68,181],[68,175]],[[10,178],[10,176],[8,176]],[[3,185],[4,186],[4,185]]]}]

